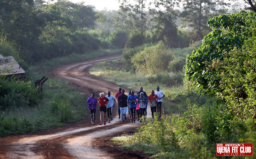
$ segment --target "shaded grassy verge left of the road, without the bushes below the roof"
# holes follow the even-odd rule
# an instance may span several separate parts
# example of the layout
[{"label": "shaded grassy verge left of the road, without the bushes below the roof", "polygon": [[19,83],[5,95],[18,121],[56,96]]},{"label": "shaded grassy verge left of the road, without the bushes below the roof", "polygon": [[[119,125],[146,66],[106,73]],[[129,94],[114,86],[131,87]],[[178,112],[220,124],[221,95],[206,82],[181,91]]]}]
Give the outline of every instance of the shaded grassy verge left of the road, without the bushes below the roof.
[{"label": "shaded grassy verge left of the road, without the bushes below the roof", "polygon": [[87,115],[86,100],[90,95],[81,93],[68,85],[68,81],[56,79],[48,74],[49,69],[77,61],[100,56],[120,54],[122,50],[99,50],[87,54],[72,54],[66,57],[44,61],[29,66],[26,70],[32,87],[43,76],[48,80],[43,84],[42,100],[33,106],[9,107],[0,111],[0,136],[24,134],[76,122]]}]

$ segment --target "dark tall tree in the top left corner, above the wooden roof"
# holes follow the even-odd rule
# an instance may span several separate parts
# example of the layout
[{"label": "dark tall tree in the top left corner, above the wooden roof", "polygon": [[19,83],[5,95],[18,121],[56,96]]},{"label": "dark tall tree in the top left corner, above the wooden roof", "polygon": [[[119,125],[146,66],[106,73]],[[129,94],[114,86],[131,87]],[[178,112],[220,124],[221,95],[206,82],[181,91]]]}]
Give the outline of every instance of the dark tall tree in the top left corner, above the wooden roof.
[{"label": "dark tall tree in the top left corner, above the wooden roof", "polygon": [[33,8],[33,0],[0,1],[0,36],[19,50],[22,59],[28,59],[36,50],[44,20]]}]

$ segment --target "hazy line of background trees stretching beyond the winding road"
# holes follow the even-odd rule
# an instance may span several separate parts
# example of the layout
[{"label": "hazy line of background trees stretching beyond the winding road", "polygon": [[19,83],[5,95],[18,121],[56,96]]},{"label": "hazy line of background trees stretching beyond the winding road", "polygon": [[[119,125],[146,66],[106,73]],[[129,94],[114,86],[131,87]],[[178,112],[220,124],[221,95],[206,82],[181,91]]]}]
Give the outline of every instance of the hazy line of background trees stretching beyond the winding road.
[{"label": "hazy line of background trees stretching beyond the winding road", "polygon": [[[166,5],[165,1],[168,2]],[[143,2],[137,2],[143,4],[138,8],[138,5],[119,1],[120,10],[111,14],[95,11],[91,5],[65,0],[55,3],[43,0],[1,1],[0,44],[5,49],[0,54],[34,63],[72,53],[86,54],[97,49],[133,48],[160,40],[168,47],[188,47],[189,43],[202,39],[209,31],[205,27],[207,19],[226,12],[215,9],[222,4],[211,3],[212,9],[208,11],[214,9],[215,12],[204,17],[198,27],[196,22],[186,20],[186,12],[169,10],[178,6],[171,2],[155,1],[153,8],[145,10],[148,6]],[[186,11],[196,11],[191,9]],[[191,19],[200,18],[196,18],[200,15],[198,12],[189,15],[195,15]],[[189,24],[186,26],[191,31],[178,29],[175,24],[177,18]]]}]

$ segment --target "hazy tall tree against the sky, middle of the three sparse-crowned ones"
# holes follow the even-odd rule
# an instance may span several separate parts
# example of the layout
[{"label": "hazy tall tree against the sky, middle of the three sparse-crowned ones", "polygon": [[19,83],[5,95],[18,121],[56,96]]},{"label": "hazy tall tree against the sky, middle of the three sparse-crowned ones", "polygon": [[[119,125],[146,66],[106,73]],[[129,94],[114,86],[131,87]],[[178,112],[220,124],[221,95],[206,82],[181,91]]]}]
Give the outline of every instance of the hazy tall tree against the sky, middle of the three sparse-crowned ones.
[{"label": "hazy tall tree against the sky, middle of the three sparse-crowned ones", "polygon": [[[155,9],[150,10],[153,20],[156,22],[157,41],[163,40],[165,43],[174,44],[177,35],[177,26],[175,20],[178,18],[180,11],[180,0],[155,0]],[[160,35],[159,35],[160,34]]]}]

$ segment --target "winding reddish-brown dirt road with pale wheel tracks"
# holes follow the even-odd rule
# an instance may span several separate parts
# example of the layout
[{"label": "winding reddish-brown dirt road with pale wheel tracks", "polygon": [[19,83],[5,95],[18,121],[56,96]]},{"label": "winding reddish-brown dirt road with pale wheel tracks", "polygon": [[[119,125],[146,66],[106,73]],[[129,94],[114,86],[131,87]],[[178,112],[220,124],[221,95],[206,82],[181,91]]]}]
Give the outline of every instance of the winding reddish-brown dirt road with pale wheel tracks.
[{"label": "winding reddish-brown dirt road with pale wheel tracks", "polygon": [[[56,78],[68,80],[71,86],[89,96],[92,92],[99,96],[100,92],[106,93],[107,91],[111,91],[111,94],[115,96],[119,87],[125,89],[127,94],[127,88],[105,81],[87,72],[88,67],[92,64],[115,58],[121,58],[121,55],[61,66],[50,70],[50,73]],[[128,112],[127,120],[122,123],[121,119],[118,119],[117,107],[116,104],[113,108],[113,121],[106,125],[99,125],[100,111],[97,108],[95,125],[92,125],[91,117],[88,116],[84,120],[60,128],[1,138],[0,158],[149,158],[148,155],[141,152],[123,150],[118,147],[116,142],[108,140],[124,133],[132,134],[136,132],[137,127],[144,125],[140,122],[131,123]],[[148,111],[150,112],[149,109]],[[151,118],[148,115],[148,119]]]}]

